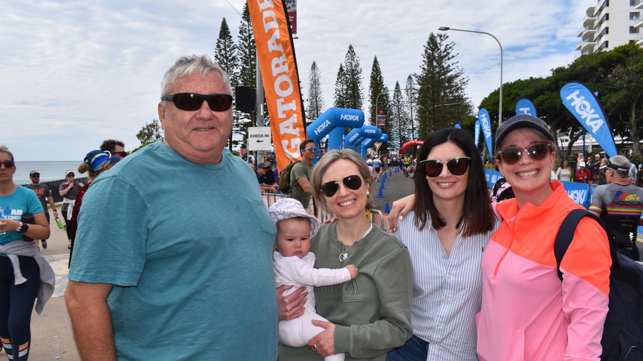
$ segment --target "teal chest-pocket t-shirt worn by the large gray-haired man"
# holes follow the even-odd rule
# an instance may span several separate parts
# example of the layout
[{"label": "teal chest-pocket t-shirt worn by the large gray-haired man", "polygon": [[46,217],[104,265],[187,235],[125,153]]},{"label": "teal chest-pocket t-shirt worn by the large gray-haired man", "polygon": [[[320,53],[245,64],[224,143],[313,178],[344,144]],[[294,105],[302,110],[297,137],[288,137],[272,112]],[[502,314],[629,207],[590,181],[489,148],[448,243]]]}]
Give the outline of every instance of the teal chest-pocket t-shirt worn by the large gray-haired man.
[{"label": "teal chest-pocket t-shirt worn by the large gray-haired man", "polygon": [[[33,193],[33,192],[32,192]],[[276,360],[275,223],[248,164],[161,141],[83,198],[69,279],[114,286],[119,360]]]}]

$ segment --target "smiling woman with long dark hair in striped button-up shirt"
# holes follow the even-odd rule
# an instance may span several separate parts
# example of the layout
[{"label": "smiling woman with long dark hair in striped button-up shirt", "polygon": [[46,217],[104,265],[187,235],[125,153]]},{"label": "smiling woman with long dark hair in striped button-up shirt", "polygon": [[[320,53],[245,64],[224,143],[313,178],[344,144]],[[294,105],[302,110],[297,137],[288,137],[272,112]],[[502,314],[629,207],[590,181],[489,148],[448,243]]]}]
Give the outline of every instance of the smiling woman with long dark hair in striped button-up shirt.
[{"label": "smiling woman with long dark hair in striped button-up shirt", "polygon": [[482,159],[464,130],[448,128],[418,160],[412,209],[394,222],[413,261],[413,337],[387,360],[476,360],[480,260],[497,226]]}]

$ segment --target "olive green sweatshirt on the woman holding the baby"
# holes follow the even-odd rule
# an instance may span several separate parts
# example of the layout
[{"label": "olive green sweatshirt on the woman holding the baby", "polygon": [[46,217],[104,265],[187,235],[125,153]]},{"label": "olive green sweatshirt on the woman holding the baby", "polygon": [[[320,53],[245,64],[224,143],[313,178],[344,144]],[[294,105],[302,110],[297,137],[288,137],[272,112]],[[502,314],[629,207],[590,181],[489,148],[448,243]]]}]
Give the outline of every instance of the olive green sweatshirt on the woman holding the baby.
[{"label": "olive green sweatshirt on the woman holding the baby", "polygon": [[[408,249],[373,225],[340,261],[336,223],[321,225],[312,239],[316,268],[355,265],[359,276],[340,285],[315,287],[317,313],[336,324],[335,353],[350,360],[386,360],[386,353],[410,339],[413,268]],[[279,344],[280,361],[323,360],[311,348]]]}]

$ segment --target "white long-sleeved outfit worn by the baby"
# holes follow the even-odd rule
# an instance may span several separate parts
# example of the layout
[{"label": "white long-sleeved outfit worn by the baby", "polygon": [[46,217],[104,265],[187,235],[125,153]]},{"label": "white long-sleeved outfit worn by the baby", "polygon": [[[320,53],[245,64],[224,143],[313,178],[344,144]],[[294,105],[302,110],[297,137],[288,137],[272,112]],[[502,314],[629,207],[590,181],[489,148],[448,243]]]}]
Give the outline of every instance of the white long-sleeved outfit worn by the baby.
[{"label": "white long-sleeved outfit worn by the baby", "polygon": [[[350,272],[345,268],[315,269],[313,267],[315,255],[312,252],[308,252],[303,258],[298,258],[297,256],[284,257],[275,251],[273,260],[276,285],[293,285],[293,288],[286,290],[284,295],[293,293],[300,286],[305,286],[308,291],[303,315],[293,320],[279,321],[279,342],[294,348],[307,346],[308,340],[324,330],[312,324],[311,320],[329,322],[315,313],[313,286],[331,286],[349,281]],[[344,354],[331,355],[324,360],[343,361]]]}]

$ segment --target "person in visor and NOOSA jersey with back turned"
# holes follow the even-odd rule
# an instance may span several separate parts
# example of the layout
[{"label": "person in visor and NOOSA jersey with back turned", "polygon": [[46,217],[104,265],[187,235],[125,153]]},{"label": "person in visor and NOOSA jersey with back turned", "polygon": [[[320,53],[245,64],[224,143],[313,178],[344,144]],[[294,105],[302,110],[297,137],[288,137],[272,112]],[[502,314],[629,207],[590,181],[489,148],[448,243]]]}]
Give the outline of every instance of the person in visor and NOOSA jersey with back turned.
[{"label": "person in visor and NOOSA jersey with back turned", "polygon": [[608,184],[594,189],[589,211],[608,226],[616,250],[638,261],[637,227],[643,225],[643,188],[629,181],[629,164],[623,155],[609,159],[605,170]]}]

